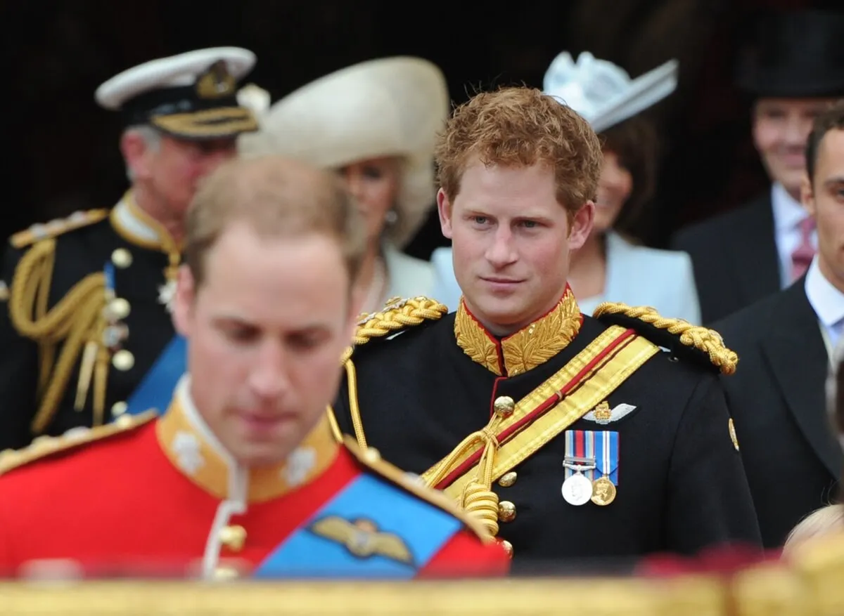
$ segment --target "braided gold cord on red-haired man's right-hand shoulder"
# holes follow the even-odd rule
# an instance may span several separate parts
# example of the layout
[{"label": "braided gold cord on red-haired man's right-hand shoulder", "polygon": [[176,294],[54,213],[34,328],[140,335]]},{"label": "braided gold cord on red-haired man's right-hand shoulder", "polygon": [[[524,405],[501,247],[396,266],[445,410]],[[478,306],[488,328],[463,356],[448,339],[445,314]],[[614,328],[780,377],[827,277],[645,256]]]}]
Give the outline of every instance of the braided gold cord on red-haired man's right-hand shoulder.
[{"label": "braided gold cord on red-haired man's right-hand shoulder", "polygon": [[628,306],[625,303],[604,302],[595,308],[592,316],[598,319],[604,314],[623,314],[625,317],[639,319],[653,325],[657,329],[666,329],[668,333],[679,336],[682,344],[694,346],[706,353],[712,365],[718,367],[722,374],[733,374],[736,371],[738,355],[724,345],[724,340],[715,329],[693,325],[683,319],[668,319],[650,306]]}]

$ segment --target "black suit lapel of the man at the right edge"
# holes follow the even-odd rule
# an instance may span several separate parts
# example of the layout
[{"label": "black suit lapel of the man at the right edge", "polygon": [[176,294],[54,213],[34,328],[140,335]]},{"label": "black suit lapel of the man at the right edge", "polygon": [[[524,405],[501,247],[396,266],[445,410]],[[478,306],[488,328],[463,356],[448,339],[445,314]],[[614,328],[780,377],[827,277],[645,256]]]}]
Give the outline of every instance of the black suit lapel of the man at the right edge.
[{"label": "black suit lapel of the man at the right edge", "polygon": [[829,356],[804,289],[805,277],[782,292],[772,311],[771,334],[762,340],[771,370],[803,436],[833,477],[841,476],[841,447],[826,415]]}]

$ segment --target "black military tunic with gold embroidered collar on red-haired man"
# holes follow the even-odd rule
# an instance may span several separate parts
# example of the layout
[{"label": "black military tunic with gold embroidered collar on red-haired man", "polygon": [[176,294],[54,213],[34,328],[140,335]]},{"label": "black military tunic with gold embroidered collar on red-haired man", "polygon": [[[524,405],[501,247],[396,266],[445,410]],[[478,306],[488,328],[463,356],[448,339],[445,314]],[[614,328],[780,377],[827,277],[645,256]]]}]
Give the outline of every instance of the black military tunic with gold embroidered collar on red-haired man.
[{"label": "black military tunic with gold embroidered collar on red-haired man", "polygon": [[[502,396],[525,398],[609,327],[584,316],[571,342],[557,340],[556,347],[549,347],[549,327],[558,328],[560,319],[539,319],[520,332],[522,348],[511,348],[508,359],[502,351],[505,341],[465,317],[463,313],[463,329],[469,323],[475,331],[463,331],[463,348],[456,342],[456,314],[451,313],[412,327],[397,326],[403,329],[398,335],[385,327],[382,337],[357,345],[351,357],[367,444],[408,472],[425,473],[470,433],[484,428]],[[567,439],[560,433],[492,485],[500,501],[498,536],[511,544],[514,565],[625,560],[666,550],[691,554],[725,542],[759,545],[717,369],[706,354],[664,329],[622,315],[613,319],[619,329],[635,328],[637,336],[655,342],[640,340],[652,346],[653,354],[602,400],[613,420],[599,424],[587,415],[568,431],[617,432],[614,501],[575,506],[563,498]],[[543,337],[538,348],[528,348]],[[490,344],[484,340],[492,345],[480,353],[470,348]],[[544,353],[543,346],[553,347],[552,352]],[[554,353],[557,347],[562,348]],[[513,357],[518,361],[512,362]],[[533,360],[524,361],[526,357]],[[508,376],[513,372],[519,373]],[[340,429],[354,434],[348,385],[347,377],[334,411]]]}]

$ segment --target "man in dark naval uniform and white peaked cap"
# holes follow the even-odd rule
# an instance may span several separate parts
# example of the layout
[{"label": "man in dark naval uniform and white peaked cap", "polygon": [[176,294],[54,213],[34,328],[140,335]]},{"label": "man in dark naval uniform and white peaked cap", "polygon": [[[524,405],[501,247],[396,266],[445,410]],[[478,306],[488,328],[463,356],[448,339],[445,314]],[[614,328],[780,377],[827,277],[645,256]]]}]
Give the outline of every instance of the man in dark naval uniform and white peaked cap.
[{"label": "man in dark naval uniform and white peaked cap", "polygon": [[0,451],[167,404],[184,368],[168,309],[184,214],[197,181],[257,129],[235,92],[254,63],[245,49],[204,49],[97,89],[97,102],[122,115],[131,188],[111,209],[10,239],[0,271]]}]

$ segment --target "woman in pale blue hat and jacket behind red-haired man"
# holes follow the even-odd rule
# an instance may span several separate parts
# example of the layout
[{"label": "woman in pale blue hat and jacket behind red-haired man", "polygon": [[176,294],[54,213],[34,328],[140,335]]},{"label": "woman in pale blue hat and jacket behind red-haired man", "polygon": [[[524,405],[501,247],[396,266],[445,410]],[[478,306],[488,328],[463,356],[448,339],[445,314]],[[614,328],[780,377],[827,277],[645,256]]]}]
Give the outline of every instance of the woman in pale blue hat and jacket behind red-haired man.
[{"label": "woman in pale blue hat and jacket behind red-haired man", "polygon": [[[544,92],[586,118],[604,144],[594,228],[571,255],[569,284],[583,313],[613,301],[652,306],[666,316],[700,323],[689,255],[641,246],[623,232],[641,215],[655,182],[655,133],[638,114],[676,87],[675,61],[630,79],[620,67],[588,52],[577,62],[563,52],[545,73]],[[442,285],[434,297],[456,306],[460,289],[451,249],[436,249],[432,260]]]}]

